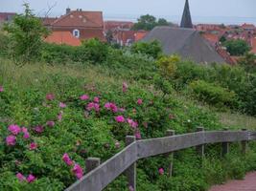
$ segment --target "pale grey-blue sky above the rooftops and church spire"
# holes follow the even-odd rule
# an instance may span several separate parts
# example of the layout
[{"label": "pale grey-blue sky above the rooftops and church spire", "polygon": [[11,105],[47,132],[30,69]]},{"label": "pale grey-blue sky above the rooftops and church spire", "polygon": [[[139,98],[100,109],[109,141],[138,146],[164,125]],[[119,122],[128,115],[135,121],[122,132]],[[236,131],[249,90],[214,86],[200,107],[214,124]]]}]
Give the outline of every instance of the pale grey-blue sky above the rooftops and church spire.
[{"label": "pale grey-blue sky above the rooftops and church spire", "polygon": [[[37,15],[44,15],[55,5],[49,16],[71,10],[103,11],[106,20],[136,20],[139,15],[150,13],[179,22],[185,0],[0,0],[0,11],[22,11],[28,2]],[[194,23],[250,22],[256,24],[256,0],[189,0]]]}]

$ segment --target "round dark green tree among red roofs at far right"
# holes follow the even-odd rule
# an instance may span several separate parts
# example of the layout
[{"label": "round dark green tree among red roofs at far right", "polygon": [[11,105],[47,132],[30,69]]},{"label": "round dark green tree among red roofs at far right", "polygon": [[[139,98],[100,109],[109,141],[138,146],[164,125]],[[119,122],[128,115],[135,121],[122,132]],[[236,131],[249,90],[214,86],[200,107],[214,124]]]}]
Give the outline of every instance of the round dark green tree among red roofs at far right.
[{"label": "round dark green tree among red roofs at far right", "polygon": [[223,46],[226,47],[227,52],[231,55],[244,55],[248,53],[250,47],[244,40],[229,40],[223,43]]}]

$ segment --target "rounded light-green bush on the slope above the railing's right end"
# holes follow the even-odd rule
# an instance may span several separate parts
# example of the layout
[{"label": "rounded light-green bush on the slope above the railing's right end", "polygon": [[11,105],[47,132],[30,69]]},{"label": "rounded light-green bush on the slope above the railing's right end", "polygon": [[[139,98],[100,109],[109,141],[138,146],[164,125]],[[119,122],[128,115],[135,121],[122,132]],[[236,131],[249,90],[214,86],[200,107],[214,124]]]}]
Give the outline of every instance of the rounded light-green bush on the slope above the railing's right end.
[{"label": "rounded light-green bush on the slope above the railing's right end", "polygon": [[216,84],[197,80],[190,84],[190,88],[200,100],[217,107],[233,106],[235,104],[236,94]]}]

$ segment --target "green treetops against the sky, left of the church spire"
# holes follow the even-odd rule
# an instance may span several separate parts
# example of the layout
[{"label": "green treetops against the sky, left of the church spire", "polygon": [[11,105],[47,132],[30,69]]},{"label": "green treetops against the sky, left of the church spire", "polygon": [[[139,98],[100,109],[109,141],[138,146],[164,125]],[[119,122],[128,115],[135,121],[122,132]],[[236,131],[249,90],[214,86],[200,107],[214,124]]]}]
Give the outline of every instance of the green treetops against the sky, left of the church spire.
[{"label": "green treetops against the sky, left of the church spire", "polygon": [[169,26],[170,23],[167,22],[164,18],[159,18],[158,20],[150,15],[142,15],[140,18],[138,18],[138,22],[134,24],[133,30],[139,31],[139,30],[145,30],[145,31],[151,31],[156,26]]}]

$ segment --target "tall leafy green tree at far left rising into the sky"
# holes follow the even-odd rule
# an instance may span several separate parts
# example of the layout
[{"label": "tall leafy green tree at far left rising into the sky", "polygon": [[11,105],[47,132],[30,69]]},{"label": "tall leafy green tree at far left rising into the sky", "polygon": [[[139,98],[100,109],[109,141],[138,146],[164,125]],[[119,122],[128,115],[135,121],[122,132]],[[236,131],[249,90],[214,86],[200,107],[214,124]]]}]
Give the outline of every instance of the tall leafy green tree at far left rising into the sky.
[{"label": "tall leafy green tree at far left rising into the sky", "polygon": [[42,48],[42,37],[48,34],[41,21],[25,3],[25,11],[14,16],[12,23],[7,23],[4,30],[11,39],[12,59],[16,64],[26,64],[39,57]]}]

